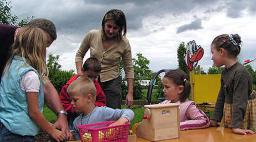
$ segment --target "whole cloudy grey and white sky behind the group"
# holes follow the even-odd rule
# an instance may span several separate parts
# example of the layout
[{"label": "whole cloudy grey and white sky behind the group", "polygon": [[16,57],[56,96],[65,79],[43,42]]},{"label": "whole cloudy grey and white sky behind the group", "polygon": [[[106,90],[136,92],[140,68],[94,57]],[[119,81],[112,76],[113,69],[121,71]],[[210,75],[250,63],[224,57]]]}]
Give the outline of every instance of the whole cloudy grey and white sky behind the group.
[{"label": "whole cloudy grey and white sky behind the group", "polygon": [[[113,8],[126,15],[133,58],[142,53],[152,71],[176,69],[179,44],[195,40],[204,49],[198,64],[207,72],[213,64],[210,44],[220,34],[241,36],[240,62],[256,57],[256,0],[11,0],[11,5],[19,18],[34,16],[55,24],[58,38],[47,52],[60,55],[65,70],[76,69],[84,36],[100,29],[104,14]],[[250,65],[256,69],[256,62]]]}]

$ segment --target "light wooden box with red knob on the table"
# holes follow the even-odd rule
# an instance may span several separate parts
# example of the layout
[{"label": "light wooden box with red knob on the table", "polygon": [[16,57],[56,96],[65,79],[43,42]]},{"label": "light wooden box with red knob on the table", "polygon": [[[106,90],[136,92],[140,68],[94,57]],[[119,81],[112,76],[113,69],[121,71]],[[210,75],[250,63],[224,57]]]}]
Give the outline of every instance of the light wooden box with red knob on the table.
[{"label": "light wooden box with red knob on the table", "polygon": [[180,137],[179,104],[145,105],[144,120],[136,128],[136,135],[151,141]]}]

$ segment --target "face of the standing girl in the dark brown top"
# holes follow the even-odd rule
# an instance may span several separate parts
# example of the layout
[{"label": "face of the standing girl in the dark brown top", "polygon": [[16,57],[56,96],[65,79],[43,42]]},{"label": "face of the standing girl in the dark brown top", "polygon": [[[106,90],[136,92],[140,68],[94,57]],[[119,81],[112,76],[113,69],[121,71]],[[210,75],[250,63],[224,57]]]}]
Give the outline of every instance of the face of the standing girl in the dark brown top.
[{"label": "face of the standing girl in the dark brown top", "polygon": [[221,55],[221,50],[217,50],[214,46],[214,44],[211,45],[211,52],[212,52],[212,60],[217,68],[221,67],[224,65]]}]

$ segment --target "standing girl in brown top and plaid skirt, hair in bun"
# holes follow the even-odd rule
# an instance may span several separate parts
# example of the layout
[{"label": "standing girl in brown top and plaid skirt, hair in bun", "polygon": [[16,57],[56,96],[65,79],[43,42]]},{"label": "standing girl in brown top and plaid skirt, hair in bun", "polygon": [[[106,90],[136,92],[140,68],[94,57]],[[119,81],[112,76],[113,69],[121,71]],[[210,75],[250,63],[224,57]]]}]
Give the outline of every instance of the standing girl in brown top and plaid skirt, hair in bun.
[{"label": "standing girl in brown top and plaid skirt, hair in bun", "polygon": [[220,91],[211,117],[211,126],[223,125],[235,134],[255,134],[256,93],[253,91],[250,72],[237,62],[241,38],[219,35],[212,41],[212,60],[216,67],[225,65],[220,79]]}]

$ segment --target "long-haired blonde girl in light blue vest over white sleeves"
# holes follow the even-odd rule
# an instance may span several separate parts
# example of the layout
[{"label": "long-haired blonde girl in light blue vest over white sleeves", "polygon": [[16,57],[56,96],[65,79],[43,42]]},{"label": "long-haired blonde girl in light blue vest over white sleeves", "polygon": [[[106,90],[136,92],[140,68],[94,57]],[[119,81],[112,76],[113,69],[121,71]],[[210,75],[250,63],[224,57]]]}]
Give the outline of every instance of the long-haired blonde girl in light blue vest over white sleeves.
[{"label": "long-haired blonde girl in light blue vest over white sleeves", "polygon": [[47,37],[36,27],[24,26],[12,45],[0,85],[0,141],[32,142],[39,128],[58,142],[65,135],[42,114],[47,83]]}]

